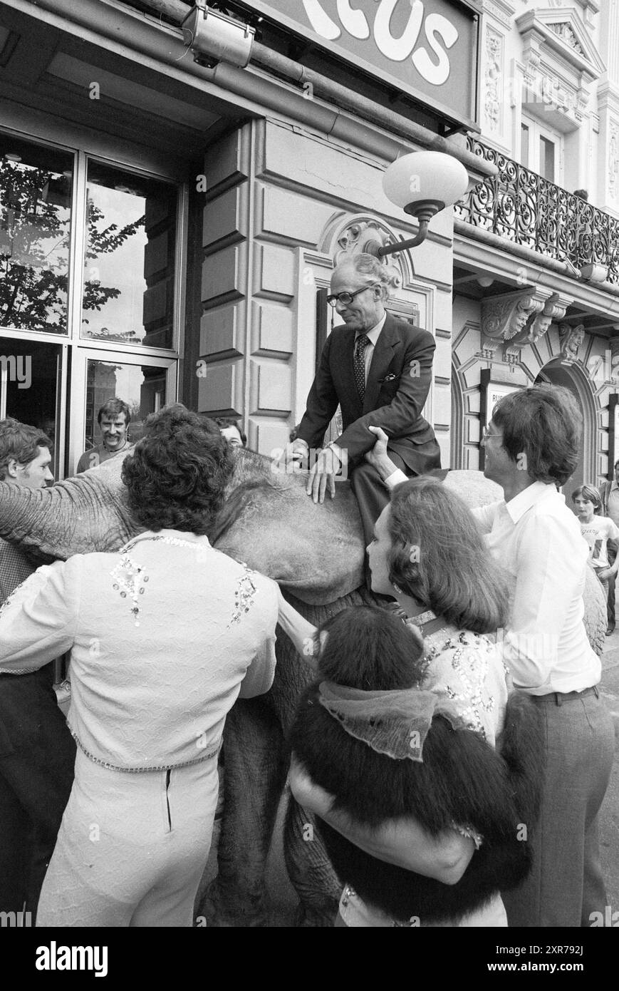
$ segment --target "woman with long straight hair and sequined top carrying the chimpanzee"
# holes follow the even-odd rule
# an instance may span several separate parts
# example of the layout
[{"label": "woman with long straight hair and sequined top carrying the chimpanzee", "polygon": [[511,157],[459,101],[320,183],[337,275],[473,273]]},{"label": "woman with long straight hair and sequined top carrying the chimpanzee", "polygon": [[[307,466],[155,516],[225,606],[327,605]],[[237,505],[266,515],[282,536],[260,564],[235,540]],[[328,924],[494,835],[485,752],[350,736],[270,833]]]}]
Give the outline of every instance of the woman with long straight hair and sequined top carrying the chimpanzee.
[{"label": "woman with long straight hair and sequined top carrying the chimpanzee", "polygon": [[[386,444],[384,451],[386,475],[390,475],[395,466],[386,456]],[[380,470],[375,461],[374,467]],[[394,597],[423,632],[420,687],[449,701],[465,725],[493,745],[502,727],[508,690],[500,651],[485,634],[503,625],[507,593],[464,501],[436,479],[406,480],[378,517],[367,555],[372,592]],[[279,617],[303,652],[312,628],[283,602]],[[472,855],[472,840],[453,829],[430,837],[417,826],[411,833],[408,824],[386,824],[382,831],[368,834],[333,812],[334,796],[318,788],[298,764],[293,764],[290,783],[303,808],[390,863],[449,884],[460,879]],[[392,925],[349,888],[340,911],[346,926]],[[506,925],[500,897],[496,894],[454,925]]]}]

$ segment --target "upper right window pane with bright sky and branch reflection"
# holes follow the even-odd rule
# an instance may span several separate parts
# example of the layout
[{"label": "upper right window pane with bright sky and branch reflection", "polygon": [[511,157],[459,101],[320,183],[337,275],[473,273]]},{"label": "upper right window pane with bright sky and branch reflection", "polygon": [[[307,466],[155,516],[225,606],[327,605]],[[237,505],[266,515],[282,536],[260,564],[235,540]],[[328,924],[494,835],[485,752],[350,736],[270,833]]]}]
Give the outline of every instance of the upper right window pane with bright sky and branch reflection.
[{"label": "upper right window pane with bright sky and branch reflection", "polygon": [[172,346],[176,190],[89,162],[82,337]]}]

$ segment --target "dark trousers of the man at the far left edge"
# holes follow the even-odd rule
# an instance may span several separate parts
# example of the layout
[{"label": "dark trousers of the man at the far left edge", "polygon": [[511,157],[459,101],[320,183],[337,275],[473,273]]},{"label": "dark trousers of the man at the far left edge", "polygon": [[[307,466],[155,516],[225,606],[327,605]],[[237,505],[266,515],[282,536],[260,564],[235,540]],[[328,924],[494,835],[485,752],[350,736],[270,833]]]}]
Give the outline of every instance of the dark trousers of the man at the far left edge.
[{"label": "dark trousers of the man at the far left edge", "polygon": [[33,921],[75,763],[52,669],[0,676],[0,912]]}]

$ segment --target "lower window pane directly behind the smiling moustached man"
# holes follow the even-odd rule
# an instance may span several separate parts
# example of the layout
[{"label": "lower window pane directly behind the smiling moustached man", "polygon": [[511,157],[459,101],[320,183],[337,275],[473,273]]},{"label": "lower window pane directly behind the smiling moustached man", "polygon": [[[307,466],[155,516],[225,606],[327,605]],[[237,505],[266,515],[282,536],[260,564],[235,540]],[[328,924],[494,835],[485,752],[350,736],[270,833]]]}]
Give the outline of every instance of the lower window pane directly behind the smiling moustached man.
[{"label": "lower window pane directly behind the smiling moustached man", "polygon": [[119,365],[116,362],[88,361],[86,373],[86,428],[84,450],[101,444],[97,414],[108,399],[124,399],[131,422],[127,433],[135,444],[144,433],[144,421],[165,405],[164,368],[146,365]]}]

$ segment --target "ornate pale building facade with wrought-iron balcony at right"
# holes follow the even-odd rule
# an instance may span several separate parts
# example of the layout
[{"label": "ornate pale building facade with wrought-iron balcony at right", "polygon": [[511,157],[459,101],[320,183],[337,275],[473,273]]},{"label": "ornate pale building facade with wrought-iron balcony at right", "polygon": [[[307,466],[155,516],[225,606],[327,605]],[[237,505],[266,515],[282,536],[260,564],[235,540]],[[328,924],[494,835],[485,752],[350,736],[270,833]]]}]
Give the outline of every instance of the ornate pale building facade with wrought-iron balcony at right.
[{"label": "ornate pale building facade with wrought-iron balcony at right", "polygon": [[456,207],[452,467],[515,386],[566,385],[584,420],[568,485],[619,457],[619,4],[482,4],[480,135],[498,175]]}]

